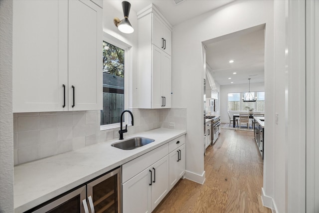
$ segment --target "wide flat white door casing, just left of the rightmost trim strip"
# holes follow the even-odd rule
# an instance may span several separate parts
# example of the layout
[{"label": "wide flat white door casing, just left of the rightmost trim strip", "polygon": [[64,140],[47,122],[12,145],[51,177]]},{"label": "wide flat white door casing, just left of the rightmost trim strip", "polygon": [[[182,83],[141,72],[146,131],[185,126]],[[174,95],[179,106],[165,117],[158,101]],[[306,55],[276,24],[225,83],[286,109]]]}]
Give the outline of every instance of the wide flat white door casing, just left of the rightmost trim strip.
[{"label": "wide flat white door casing, just left of the rightmost trim strip", "polygon": [[288,213],[303,213],[306,210],[305,1],[288,0],[286,6],[285,209]]}]

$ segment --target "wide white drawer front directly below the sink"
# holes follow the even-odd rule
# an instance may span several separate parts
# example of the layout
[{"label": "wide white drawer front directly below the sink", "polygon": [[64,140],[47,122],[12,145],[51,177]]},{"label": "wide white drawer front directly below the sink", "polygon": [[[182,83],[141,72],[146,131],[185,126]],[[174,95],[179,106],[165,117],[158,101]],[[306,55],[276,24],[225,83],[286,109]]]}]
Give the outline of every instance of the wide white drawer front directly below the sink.
[{"label": "wide white drawer front directly below the sink", "polygon": [[122,183],[130,180],[155,162],[168,155],[168,143],[152,150],[122,166]]}]

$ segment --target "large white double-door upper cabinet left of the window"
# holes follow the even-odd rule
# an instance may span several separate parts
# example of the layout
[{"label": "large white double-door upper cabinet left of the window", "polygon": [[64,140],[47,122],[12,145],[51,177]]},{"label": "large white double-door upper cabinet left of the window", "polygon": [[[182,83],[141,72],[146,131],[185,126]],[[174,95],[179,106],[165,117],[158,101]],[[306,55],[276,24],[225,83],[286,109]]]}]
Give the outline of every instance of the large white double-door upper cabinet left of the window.
[{"label": "large white double-door upper cabinet left of the window", "polygon": [[102,19],[92,1],[13,1],[13,112],[102,107]]}]

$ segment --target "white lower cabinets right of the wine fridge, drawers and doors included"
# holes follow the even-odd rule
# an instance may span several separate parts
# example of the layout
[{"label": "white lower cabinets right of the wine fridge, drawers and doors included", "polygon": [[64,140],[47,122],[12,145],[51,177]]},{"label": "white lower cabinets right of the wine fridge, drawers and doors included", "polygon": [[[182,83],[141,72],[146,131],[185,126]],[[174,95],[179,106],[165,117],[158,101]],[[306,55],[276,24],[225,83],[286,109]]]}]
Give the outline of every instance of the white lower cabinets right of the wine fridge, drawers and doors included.
[{"label": "white lower cabinets right of the wine fridge, drawers and doors included", "polygon": [[151,213],[184,173],[184,135],[122,165],[123,213]]}]

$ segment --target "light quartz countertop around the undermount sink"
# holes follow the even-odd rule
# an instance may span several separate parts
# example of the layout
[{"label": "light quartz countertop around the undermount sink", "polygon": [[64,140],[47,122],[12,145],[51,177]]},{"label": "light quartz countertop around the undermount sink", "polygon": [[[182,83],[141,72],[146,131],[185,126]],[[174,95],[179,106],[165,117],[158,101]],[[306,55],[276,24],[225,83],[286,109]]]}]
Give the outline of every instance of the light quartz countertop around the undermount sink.
[{"label": "light quartz countertop around the undermount sink", "polygon": [[161,145],[186,134],[184,130],[159,128],[125,136],[154,139],[134,150],[121,150],[114,139],[79,150],[14,167],[14,212],[21,213],[117,168]]}]

